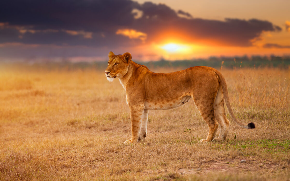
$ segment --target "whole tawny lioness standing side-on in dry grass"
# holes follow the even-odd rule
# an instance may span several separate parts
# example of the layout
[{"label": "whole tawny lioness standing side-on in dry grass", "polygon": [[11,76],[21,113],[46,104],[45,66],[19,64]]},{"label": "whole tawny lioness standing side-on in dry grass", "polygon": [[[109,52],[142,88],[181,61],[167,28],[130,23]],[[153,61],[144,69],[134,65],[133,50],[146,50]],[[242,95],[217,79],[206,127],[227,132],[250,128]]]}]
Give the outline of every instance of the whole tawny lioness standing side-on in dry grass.
[{"label": "whole tawny lioness standing side-on in dry grass", "polygon": [[[243,128],[255,128],[254,123],[243,125],[237,121],[231,109],[226,81],[214,68],[196,66],[163,74],[151,72],[131,59],[130,53],[115,55],[110,52],[105,71],[108,81],[117,77],[126,90],[132,137],[124,144],[145,140],[148,110],[172,109],[184,105],[191,98],[209,127],[207,138],[200,142],[226,139],[230,122],[224,111],[224,100],[235,123]],[[215,138],[218,125],[220,135]]]}]

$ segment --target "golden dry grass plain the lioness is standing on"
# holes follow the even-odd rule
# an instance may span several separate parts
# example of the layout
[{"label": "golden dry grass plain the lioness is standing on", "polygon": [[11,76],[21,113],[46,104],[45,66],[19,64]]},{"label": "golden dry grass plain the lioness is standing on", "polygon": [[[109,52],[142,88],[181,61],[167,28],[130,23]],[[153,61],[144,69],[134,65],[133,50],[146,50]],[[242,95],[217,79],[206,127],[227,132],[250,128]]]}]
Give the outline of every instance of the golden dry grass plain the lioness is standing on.
[{"label": "golden dry grass plain the lioness is standing on", "polygon": [[147,145],[123,145],[130,116],[118,80],[95,70],[2,71],[0,180],[289,180],[289,70],[222,74],[235,115],[256,129],[231,123],[226,141],[200,144],[208,129],[191,100],[149,111]]}]

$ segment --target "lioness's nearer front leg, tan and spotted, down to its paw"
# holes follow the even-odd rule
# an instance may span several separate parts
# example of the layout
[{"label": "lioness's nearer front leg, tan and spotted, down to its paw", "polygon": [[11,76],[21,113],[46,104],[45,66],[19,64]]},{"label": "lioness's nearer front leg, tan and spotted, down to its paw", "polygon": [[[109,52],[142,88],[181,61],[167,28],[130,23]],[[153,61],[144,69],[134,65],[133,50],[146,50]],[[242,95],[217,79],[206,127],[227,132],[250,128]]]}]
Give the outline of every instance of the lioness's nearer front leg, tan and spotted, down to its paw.
[{"label": "lioness's nearer front leg, tan and spotted, down to its paw", "polygon": [[[124,144],[136,143],[138,141],[139,135],[140,135],[142,118],[143,118],[143,114],[144,114],[144,105],[143,104],[129,105],[129,108],[130,108],[132,137],[130,140],[126,140],[124,142]],[[147,129],[147,123],[146,123],[146,129]]]}]

